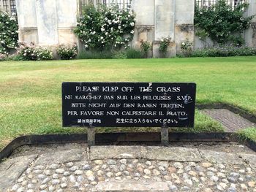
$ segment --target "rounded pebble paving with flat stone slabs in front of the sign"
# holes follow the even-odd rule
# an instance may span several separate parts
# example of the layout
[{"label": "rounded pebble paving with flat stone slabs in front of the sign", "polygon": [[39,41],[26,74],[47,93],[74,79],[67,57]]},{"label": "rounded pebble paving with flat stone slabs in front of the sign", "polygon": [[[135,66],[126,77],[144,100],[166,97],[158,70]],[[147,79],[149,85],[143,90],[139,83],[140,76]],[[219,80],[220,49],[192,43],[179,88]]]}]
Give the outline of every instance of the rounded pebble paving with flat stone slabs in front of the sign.
[{"label": "rounded pebble paving with flat stone slabs in front of the sign", "polygon": [[[98,153],[107,148],[107,158],[98,158]],[[132,153],[124,153],[124,148],[96,147],[95,153],[80,149],[75,153],[67,150],[38,155],[5,190],[256,192],[255,153],[227,153],[227,161],[218,162],[218,158],[211,159],[209,155],[203,155],[208,150],[197,150],[198,153],[195,153],[192,148],[184,152],[184,148],[175,147],[173,150],[173,147],[165,147],[167,158],[162,155],[161,159],[157,156],[155,159],[147,159],[143,156],[150,153],[146,147],[132,147]],[[163,153],[161,147],[154,147],[154,154],[157,154],[156,151]],[[173,157],[170,157],[172,151]],[[186,159],[180,161],[179,151],[199,154],[199,157],[191,155],[189,158],[187,155]],[[209,153],[216,153],[215,156],[219,154],[212,151]],[[220,154],[225,155],[223,152]],[[244,155],[246,158],[243,158]],[[237,158],[237,161],[233,161],[233,158]]]}]

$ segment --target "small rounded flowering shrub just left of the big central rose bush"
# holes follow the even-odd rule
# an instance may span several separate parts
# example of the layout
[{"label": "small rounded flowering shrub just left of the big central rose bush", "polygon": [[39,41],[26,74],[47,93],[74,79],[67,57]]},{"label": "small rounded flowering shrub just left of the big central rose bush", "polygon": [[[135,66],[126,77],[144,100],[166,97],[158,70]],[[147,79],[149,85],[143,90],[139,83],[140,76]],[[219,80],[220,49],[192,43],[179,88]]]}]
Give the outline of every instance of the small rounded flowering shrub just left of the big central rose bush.
[{"label": "small rounded flowering shrub just left of the big central rose bush", "polygon": [[64,60],[74,59],[78,55],[77,45],[73,45],[72,47],[59,45],[56,51],[60,58]]}]

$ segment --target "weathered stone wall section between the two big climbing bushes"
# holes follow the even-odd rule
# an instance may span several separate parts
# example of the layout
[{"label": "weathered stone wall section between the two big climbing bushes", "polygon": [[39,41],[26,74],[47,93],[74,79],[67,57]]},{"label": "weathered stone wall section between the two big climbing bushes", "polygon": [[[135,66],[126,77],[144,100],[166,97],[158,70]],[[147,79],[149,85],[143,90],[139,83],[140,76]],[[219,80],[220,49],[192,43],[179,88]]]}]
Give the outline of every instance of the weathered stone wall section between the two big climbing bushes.
[{"label": "weathered stone wall section between the two big climbing bushes", "polygon": [[[143,8],[142,8],[143,7]],[[160,57],[159,42],[171,37],[167,56],[180,53],[181,42],[194,42],[194,0],[141,0],[133,1],[136,12],[136,30],[133,45],[140,47],[140,40],[152,43],[153,57]],[[141,11],[143,9],[143,11]]]}]

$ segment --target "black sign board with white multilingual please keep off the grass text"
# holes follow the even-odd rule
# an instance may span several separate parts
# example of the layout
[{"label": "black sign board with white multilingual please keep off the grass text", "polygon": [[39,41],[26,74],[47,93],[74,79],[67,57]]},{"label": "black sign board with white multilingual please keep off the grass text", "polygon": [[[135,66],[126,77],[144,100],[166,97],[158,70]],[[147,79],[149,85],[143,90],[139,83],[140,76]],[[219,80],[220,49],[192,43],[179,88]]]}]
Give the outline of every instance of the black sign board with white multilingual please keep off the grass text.
[{"label": "black sign board with white multilingual please keep off the grass text", "polygon": [[195,83],[63,82],[63,126],[193,127]]}]

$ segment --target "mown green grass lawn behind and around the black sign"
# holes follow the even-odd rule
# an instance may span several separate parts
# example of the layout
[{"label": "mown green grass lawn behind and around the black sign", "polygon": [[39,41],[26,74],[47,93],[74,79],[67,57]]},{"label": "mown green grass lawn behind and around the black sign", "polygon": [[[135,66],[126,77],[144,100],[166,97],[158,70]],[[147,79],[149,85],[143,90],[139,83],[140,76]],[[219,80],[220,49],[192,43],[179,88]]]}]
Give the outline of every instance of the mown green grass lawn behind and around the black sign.
[{"label": "mown green grass lawn behind and around the black sign", "polygon": [[[224,102],[256,115],[256,57],[0,62],[0,149],[24,134],[84,131],[61,128],[64,81],[196,82],[197,104]],[[198,111],[195,128],[222,131]]]}]

